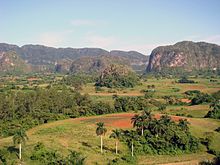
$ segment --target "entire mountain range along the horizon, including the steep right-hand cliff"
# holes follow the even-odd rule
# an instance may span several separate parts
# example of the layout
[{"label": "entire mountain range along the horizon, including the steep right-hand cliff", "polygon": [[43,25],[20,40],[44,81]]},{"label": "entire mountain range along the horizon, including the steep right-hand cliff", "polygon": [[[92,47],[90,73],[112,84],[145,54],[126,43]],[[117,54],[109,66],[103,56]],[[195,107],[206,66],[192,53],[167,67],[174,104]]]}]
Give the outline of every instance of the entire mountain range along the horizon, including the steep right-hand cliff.
[{"label": "entire mountain range along the horizon, including the steep right-hand cliff", "polygon": [[[20,63],[23,61],[23,65],[28,65],[32,71],[91,74],[102,72],[110,64],[125,65],[140,73],[178,69],[191,72],[220,68],[220,46],[206,42],[182,41],[174,45],[160,46],[152,51],[150,57],[136,51],[109,52],[100,48],[53,48],[43,45],[19,47],[0,43],[1,54],[7,55],[7,52],[11,51],[19,57]],[[0,68],[0,72],[7,68],[6,66],[12,68],[4,60],[1,61],[1,66],[4,67]]]}]

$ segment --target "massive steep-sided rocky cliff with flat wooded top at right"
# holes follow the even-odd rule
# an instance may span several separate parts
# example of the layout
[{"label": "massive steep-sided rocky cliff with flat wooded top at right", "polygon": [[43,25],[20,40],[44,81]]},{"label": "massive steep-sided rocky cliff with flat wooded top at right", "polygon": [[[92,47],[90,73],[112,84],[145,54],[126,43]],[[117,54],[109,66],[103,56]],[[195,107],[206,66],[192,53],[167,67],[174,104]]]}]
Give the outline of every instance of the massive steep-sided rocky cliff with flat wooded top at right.
[{"label": "massive steep-sided rocky cliff with flat wooded top at right", "polygon": [[182,68],[185,71],[215,69],[220,66],[220,46],[205,42],[178,42],[160,46],[150,55],[146,71]]}]

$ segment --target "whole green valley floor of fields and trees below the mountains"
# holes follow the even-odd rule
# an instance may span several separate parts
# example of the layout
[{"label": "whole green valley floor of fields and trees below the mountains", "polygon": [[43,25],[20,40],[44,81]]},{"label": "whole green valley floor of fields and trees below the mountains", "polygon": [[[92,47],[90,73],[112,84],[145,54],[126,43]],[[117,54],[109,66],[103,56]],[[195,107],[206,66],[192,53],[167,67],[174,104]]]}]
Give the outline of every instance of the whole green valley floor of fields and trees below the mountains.
[{"label": "whole green valley floor of fields and trees below the mountains", "polygon": [[[130,74],[127,71],[122,73]],[[36,79],[27,76],[29,81],[25,77],[1,78],[0,162],[87,164],[94,159],[93,163],[138,164],[142,157],[148,160],[158,155],[202,153],[209,159],[214,157],[206,151],[217,157],[220,149],[218,81],[192,78],[196,83],[178,83],[175,79],[152,77],[143,80],[136,75],[132,77],[133,73],[132,78],[126,75],[129,79],[125,81],[107,73],[102,73],[108,75],[102,80],[102,75],[95,80],[83,74],[36,75]],[[133,85],[128,85],[131,82]],[[97,120],[92,117],[91,123],[84,118],[74,122],[69,119],[131,111],[136,115],[130,117],[128,123],[132,122],[134,127],[129,129],[115,124],[114,120],[125,122],[120,116],[112,117],[114,120],[109,122],[102,116]],[[53,122],[56,120],[62,121],[56,125]],[[203,122],[208,123],[207,129]],[[20,127],[28,132],[28,140],[25,134],[19,134]],[[39,130],[29,133],[30,128]],[[211,132],[212,138],[205,132]],[[15,146],[10,146],[12,140],[8,136],[17,135],[24,135],[28,145],[21,138],[15,141]]]}]

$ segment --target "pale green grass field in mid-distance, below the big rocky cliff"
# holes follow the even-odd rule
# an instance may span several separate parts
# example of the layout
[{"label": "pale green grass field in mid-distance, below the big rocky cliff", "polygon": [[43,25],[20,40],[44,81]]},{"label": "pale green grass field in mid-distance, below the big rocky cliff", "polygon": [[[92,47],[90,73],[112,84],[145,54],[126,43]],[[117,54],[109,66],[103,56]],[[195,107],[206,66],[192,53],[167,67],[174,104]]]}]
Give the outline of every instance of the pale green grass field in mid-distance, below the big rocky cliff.
[{"label": "pale green grass field in mid-distance, below the big rocky cliff", "polygon": [[161,97],[166,95],[173,95],[183,98],[183,93],[187,90],[200,90],[205,93],[214,93],[220,90],[220,84],[218,82],[210,82],[209,79],[197,78],[193,79],[197,83],[195,84],[179,84],[176,83],[177,79],[148,79],[146,82],[142,81],[141,85],[134,88],[127,89],[113,89],[102,88],[103,91],[96,92],[93,83],[87,84],[83,87],[82,93],[88,93],[92,96],[112,96],[114,94],[121,96],[141,96],[143,93],[140,91],[147,89],[148,85],[155,85],[155,97]]}]

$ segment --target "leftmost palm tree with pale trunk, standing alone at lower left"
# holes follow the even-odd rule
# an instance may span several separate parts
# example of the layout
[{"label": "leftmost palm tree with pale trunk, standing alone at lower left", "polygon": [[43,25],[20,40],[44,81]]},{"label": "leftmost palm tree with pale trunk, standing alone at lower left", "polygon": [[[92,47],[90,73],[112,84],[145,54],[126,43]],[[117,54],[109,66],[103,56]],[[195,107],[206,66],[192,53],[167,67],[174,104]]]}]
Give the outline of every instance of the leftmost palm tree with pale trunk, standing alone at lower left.
[{"label": "leftmost palm tree with pale trunk, standing alone at lower left", "polygon": [[13,136],[13,142],[14,144],[19,145],[19,159],[21,160],[21,144],[25,143],[25,141],[28,140],[28,136],[23,128],[19,128],[14,136]]}]

